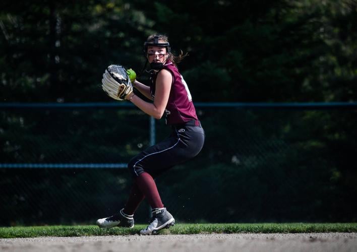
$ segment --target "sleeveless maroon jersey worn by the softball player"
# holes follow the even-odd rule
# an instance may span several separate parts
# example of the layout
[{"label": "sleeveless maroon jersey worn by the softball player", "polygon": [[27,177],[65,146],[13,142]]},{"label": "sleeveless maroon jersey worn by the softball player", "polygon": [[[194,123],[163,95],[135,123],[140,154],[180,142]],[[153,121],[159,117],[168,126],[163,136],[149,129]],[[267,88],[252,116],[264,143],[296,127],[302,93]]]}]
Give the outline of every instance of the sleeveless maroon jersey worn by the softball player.
[{"label": "sleeveless maroon jersey worn by the softball player", "polygon": [[[190,120],[198,120],[190,90],[182,75],[170,61],[165,63],[163,69],[172,74],[172,85],[165,109],[166,124],[181,124]],[[150,78],[150,93],[153,98],[156,77],[157,73]]]}]

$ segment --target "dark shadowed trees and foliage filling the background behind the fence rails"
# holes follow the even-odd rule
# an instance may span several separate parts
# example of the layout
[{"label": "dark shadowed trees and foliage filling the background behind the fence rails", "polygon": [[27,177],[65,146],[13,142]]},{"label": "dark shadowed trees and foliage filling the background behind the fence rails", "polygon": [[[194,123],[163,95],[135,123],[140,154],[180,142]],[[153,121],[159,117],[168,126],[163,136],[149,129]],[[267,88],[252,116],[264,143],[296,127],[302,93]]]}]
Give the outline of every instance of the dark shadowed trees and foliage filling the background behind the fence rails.
[{"label": "dark shadowed trees and foliage filling the background behind the fence rails", "polygon": [[[352,0],[6,0],[0,101],[112,101],[100,87],[104,69],[139,73],[154,32],[189,53],[178,67],[194,102],[356,101],[355,24]],[[178,219],[356,221],[355,110],[198,112],[204,150],[158,180]],[[149,144],[147,117],[135,109],[0,113],[1,163],[125,163]],[[157,132],[167,134],[163,122]],[[2,169],[0,177],[0,225],[112,214],[131,181],[122,170]]]}]

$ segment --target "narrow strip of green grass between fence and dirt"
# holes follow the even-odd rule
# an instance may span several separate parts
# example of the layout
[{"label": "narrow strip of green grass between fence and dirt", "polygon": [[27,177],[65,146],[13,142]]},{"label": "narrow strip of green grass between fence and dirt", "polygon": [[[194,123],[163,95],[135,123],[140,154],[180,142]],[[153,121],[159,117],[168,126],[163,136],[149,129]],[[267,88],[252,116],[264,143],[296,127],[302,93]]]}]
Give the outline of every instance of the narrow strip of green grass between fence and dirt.
[{"label": "narrow strip of green grass between fence and dirt", "polygon": [[[119,227],[102,229],[97,226],[0,227],[0,238],[131,235],[139,233],[145,226],[135,225],[132,229]],[[357,223],[176,224],[170,229],[160,230],[160,234],[321,232],[357,232]]]}]

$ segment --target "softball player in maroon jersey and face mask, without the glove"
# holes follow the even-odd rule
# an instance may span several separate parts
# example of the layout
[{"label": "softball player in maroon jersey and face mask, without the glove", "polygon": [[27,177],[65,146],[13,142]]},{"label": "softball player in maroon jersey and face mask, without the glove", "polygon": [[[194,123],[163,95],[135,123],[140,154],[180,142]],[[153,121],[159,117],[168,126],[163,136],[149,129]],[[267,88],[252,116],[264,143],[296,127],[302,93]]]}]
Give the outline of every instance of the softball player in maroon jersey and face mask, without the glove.
[{"label": "softball player in maroon jersey and face mask, without the glove", "polygon": [[128,164],[134,183],[125,207],[117,214],[97,220],[99,227],[134,227],[134,213],[146,198],[152,208],[150,224],[140,234],[152,234],[174,225],[174,218],[164,208],[154,178],[176,164],[195,157],[202,149],[205,134],[197,118],[188,86],[176,64],[186,55],[174,56],[168,38],[151,35],[144,43],[150,64],[150,86],[134,81],[133,86],[153,102],[134,93],[127,97],[138,108],[160,119],[163,115],[171,128],[170,136],[135,156]]}]

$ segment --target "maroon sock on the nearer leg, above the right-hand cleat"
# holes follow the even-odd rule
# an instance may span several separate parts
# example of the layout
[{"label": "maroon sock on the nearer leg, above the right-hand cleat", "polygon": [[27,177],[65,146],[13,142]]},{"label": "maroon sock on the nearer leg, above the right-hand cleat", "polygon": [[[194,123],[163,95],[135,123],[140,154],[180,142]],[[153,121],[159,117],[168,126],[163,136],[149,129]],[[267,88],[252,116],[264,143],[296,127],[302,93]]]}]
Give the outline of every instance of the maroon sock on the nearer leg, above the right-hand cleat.
[{"label": "maroon sock on the nearer leg, above the right-hand cleat", "polygon": [[149,202],[149,205],[154,208],[163,208],[159,192],[157,191],[156,183],[153,177],[147,173],[141,173],[136,179],[140,191],[146,197]]}]

